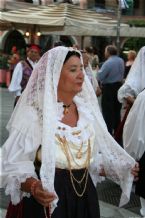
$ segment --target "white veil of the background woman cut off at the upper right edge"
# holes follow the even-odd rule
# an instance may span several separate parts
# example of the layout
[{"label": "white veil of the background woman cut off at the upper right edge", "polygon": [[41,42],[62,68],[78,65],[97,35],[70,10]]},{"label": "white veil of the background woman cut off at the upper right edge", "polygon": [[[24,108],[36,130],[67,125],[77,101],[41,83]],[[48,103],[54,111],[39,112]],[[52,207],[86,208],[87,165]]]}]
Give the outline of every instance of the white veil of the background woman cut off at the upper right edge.
[{"label": "white veil of the background woman cut off at the upper right edge", "polygon": [[122,103],[128,96],[136,97],[145,88],[145,46],[140,49],[131,66],[125,83],[118,90],[118,100]]}]

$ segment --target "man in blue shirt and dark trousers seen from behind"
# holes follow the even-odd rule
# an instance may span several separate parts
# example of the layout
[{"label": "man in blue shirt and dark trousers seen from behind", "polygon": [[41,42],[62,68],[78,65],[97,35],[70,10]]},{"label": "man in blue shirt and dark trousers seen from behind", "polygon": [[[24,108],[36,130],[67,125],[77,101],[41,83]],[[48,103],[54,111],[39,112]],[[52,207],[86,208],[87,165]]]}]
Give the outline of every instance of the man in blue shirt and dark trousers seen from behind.
[{"label": "man in blue shirt and dark trousers seen from behind", "polygon": [[97,79],[102,86],[101,107],[108,131],[114,135],[120,123],[121,103],[117,99],[118,89],[124,76],[124,60],[117,55],[117,48],[108,45],[105,48],[107,59],[97,73]]}]

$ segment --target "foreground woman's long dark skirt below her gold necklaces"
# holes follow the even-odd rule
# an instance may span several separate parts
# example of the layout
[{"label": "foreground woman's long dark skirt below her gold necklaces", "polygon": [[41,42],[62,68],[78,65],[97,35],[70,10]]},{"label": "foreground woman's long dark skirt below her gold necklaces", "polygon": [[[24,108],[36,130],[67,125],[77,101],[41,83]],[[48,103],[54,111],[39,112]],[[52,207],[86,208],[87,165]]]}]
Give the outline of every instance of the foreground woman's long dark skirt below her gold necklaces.
[{"label": "foreground woman's long dark skirt below her gold necklaces", "polygon": [[[83,173],[84,169],[73,170],[73,175],[78,180],[82,178]],[[76,195],[68,170],[56,169],[54,186],[59,201],[51,218],[100,218],[97,191],[90,176],[82,197]],[[75,183],[75,187],[81,193],[84,184]],[[49,217],[48,210],[47,216]],[[43,206],[31,196],[24,197],[16,206],[10,203],[6,218],[46,218],[46,216]]]}]

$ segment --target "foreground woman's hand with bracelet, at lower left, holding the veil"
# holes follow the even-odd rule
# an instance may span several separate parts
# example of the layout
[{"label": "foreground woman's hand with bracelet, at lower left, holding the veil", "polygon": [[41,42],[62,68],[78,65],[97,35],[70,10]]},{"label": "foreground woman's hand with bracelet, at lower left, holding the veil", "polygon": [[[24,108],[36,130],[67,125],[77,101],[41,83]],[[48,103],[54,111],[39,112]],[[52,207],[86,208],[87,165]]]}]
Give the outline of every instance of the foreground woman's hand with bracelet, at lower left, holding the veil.
[{"label": "foreground woman's hand with bracelet, at lower left, holding the veil", "polygon": [[[32,183],[33,186],[33,183]],[[45,191],[42,187],[42,183],[38,181],[32,192],[33,197],[44,207],[49,207],[49,204],[56,198],[54,193]]]}]

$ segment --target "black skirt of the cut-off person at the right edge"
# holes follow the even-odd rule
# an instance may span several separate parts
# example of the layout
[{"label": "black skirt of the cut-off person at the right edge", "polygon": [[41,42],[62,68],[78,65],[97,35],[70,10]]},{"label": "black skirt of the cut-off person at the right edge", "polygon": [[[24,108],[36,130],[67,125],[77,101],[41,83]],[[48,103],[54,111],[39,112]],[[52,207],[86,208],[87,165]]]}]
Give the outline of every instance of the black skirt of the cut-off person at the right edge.
[{"label": "black skirt of the cut-off person at the right edge", "polygon": [[139,180],[135,184],[135,194],[145,199],[145,152],[139,160]]}]

